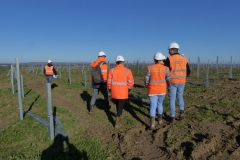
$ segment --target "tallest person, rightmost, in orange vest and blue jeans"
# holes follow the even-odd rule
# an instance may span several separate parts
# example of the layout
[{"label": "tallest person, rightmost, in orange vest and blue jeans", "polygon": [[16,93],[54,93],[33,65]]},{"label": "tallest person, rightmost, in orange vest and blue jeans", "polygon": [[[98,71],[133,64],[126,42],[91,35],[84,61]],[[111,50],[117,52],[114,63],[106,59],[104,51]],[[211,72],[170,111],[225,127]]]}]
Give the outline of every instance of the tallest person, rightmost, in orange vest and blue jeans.
[{"label": "tallest person, rightmost, in orange vest and blue jeans", "polygon": [[171,72],[171,81],[168,86],[168,96],[170,105],[171,122],[175,121],[175,101],[178,99],[180,109],[179,119],[184,118],[184,87],[186,78],[190,75],[188,60],[184,55],[178,53],[179,45],[176,42],[170,43],[165,65],[169,67]]}]

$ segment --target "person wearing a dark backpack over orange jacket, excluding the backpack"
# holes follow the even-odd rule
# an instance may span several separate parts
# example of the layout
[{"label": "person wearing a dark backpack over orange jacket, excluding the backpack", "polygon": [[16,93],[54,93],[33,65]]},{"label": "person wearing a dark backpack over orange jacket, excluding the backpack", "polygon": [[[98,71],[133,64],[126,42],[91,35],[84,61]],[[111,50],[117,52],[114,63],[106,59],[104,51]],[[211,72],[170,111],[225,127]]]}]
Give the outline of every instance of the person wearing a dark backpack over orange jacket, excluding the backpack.
[{"label": "person wearing a dark backpack over orange jacket, excluding the backpack", "polygon": [[93,95],[90,101],[90,110],[89,110],[89,114],[92,114],[94,111],[94,105],[98,96],[99,91],[103,94],[104,96],[104,101],[105,101],[105,105],[107,107],[107,109],[111,109],[111,106],[109,105],[109,101],[108,101],[108,91],[107,91],[107,70],[108,70],[108,66],[107,66],[107,60],[106,60],[106,54],[103,51],[100,51],[98,53],[98,58],[97,60],[95,60],[94,62],[92,62],[90,64],[90,66],[92,68],[97,67],[98,65],[100,65],[100,69],[101,69],[101,75],[102,76],[102,82],[100,83],[94,83],[94,80],[92,79],[92,88],[93,88]]}]

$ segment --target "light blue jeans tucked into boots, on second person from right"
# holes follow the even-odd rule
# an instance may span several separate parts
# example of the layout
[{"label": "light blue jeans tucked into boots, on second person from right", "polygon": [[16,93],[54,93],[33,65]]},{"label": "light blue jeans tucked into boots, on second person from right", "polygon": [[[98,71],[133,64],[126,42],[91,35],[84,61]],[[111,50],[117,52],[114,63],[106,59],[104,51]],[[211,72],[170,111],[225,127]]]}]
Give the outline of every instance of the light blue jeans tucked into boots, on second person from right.
[{"label": "light blue jeans tucked into boots, on second person from right", "polygon": [[150,99],[150,116],[156,116],[156,110],[158,109],[158,114],[163,113],[163,100],[165,95],[149,96]]}]

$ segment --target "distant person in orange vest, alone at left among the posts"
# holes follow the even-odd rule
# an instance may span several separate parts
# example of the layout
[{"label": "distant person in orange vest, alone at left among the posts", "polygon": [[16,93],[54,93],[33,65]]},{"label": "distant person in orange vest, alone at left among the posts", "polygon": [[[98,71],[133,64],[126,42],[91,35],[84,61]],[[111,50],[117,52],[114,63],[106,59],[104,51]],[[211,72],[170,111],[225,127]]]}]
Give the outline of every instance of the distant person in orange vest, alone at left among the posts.
[{"label": "distant person in orange vest, alone at left among the posts", "polygon": [[57,77],[57,71],[55,70],[51,60],[48,60],[48,64],[44,66],[43,73],[46,76],[48,83],[52,83],[52,78]]}]

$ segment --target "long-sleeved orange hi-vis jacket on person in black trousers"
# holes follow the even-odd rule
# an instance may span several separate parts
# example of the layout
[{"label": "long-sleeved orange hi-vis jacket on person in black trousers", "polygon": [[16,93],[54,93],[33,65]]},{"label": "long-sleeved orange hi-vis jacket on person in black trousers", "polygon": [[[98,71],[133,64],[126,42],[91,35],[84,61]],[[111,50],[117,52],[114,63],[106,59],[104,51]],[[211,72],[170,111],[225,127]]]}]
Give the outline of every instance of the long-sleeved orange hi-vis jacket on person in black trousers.
[{"label": "long-sleeved orange hi-vis jacket on person in black trousers", "polygon": [[110,69],[107,86],[111,89],[111,97],[114,99],[128,99],[128,89],[134,85],[132,71],[123,64]]}]

